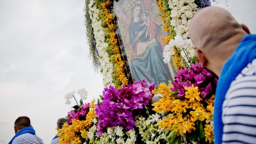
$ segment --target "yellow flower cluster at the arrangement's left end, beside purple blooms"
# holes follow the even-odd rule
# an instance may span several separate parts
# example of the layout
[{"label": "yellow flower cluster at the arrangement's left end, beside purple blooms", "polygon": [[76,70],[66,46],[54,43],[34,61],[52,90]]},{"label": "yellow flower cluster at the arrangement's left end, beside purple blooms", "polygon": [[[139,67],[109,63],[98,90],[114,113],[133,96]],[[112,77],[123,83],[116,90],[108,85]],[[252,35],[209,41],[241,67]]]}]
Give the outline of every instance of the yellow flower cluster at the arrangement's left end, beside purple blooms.
[{"label": "yellow flower cluster at the arrangement's left end, beside purple blooms", "polygon": [[86,138],[87,130],[91,127],[94,118],[97,118],[94,109],[94,101],[90,103],[90,111],[86,114],[86,120],[72,120],[72,125],[64,124],[61,129],[57,129],[59,134],[59,144],[81,144],[82,138]]}]

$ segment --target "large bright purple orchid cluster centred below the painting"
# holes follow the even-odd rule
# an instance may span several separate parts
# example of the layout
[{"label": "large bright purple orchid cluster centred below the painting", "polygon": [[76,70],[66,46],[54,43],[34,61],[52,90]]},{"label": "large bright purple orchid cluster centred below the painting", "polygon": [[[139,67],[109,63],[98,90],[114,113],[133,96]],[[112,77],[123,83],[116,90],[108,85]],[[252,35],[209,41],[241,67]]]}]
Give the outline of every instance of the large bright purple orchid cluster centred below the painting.
[{"label": "large bright purple orchid cluster centred below the painting", "polygon": [[143,79],[140,82],[125,85],[116,89],[113,86],[103,90],[103,101],[95,105],[98,115],[97,134],[102,135],[108,127],[122,126],[124,130],[130,130],[135,124],[135,116],[149,104],[153,96],[151,92],[155,83],[146,83]]}]

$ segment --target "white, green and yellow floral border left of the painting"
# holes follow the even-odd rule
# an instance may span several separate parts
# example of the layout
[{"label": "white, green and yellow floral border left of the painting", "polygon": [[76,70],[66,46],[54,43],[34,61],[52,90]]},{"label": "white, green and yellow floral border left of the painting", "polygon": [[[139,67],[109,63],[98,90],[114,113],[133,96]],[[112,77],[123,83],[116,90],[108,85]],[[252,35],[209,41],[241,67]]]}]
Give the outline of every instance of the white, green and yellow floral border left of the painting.
[{"label": "white, green and yellow floral border left of the painting", "polygon": [[112,5],[113,1],[110,0],[90,0],[88,13],[102,67],[103,84],[107,86],[113,82],[115,86],[121,87],[128,84],[128,79],[124,74],[124,62],[118,48],[117,41],[120,40],[116,34]]}]

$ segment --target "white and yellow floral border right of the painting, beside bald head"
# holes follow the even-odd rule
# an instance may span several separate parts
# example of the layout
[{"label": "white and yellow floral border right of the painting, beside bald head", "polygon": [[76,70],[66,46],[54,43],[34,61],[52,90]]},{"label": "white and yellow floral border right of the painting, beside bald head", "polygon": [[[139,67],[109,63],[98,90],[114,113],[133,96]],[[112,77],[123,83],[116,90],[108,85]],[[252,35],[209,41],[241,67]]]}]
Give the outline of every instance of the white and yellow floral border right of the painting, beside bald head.
[{"label": "white and yellow floral border right of the painting, beside bald head", "polygon": [[[194,55],[194,46],[189,39],[189,23],[193,15],[211,5],[210,0],[159,0],[159,11],[162,11],[164,30],[169,30],[170,36],[162,38],[165,43],[163,57],[165,63],[172,60],[176,69],[189,67]],[[173,39],[171,39],[173,38]]]}]

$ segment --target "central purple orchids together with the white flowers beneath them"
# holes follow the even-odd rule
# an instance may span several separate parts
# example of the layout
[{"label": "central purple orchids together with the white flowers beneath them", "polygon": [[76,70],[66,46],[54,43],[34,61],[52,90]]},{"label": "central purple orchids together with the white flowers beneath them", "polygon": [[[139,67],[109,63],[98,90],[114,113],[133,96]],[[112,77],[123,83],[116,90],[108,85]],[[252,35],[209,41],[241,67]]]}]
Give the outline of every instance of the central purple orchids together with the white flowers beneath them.
[{"label": "central purple orchids together with the white flowers beneath them", "polygon": [[87,143],[132,144],[141,141],[137,139],[138,125],[135,123],[145,114],[154,87],[155,83],[142,80],[119,89],[113,86],[105,88],[103,101],[95,106],[98,122],[89,129]]}]

